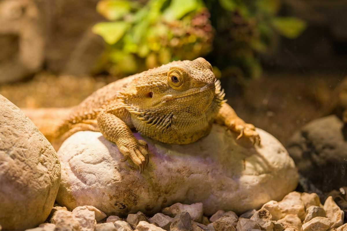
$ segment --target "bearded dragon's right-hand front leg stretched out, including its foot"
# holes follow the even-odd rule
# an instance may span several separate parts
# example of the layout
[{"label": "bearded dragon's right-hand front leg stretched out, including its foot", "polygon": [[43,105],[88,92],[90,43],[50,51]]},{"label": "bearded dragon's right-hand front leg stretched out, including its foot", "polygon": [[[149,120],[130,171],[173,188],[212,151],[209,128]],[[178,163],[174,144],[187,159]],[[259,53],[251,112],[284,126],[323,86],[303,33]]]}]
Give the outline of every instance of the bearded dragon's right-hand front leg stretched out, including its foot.
[{"label": "bearded dragon's right-hand front leg stretched out, including its foot", "polygon": [[226,103],[223,103],[221,108],[219,109],[215,122],[227,126],[231,131],[239,133],[236,138],[237,140],[242,136],[245,136],[248,137],[253,142],[253,144],[260,144],[260,136],[255,131],[254,125],[247,124],[245,121],[243,121],[236,115],[234,109],[232,109]]}]

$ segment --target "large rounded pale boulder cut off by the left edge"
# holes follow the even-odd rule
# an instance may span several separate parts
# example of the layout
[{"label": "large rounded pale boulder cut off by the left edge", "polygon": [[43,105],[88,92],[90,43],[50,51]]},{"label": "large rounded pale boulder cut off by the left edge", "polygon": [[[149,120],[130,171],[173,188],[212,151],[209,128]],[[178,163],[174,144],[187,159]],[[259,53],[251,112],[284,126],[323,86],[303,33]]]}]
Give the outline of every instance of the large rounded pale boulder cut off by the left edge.
[{"label": "large rounded pale boulder cut off by the left edge", "polygon": [[33,122],[0,95],[0,224],[34,228],[47,219],[60,182],[60,162]]}]

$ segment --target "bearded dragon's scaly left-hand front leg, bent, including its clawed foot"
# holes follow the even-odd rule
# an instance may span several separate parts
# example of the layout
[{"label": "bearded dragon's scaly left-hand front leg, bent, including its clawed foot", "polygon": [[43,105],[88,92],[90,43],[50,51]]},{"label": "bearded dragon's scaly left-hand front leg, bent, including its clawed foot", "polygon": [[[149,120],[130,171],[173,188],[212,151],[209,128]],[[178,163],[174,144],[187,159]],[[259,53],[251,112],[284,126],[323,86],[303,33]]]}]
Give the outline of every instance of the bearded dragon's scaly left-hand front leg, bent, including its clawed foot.
[{"label": "bearded dragon's scaly left-hand front leg, bent, including its clawed foot", "polygon": [[145,141],[137,140],[134,137],[129,128],[132,124],[126,113],[125,109],[122,108],[104,110],[98,115],[98,127],[102,135],[109,141],[116,143],[119,151],[125,156],[121,161],[126,161],[130,157],[139,167],[141,174],[149,162],[148,145]]}]

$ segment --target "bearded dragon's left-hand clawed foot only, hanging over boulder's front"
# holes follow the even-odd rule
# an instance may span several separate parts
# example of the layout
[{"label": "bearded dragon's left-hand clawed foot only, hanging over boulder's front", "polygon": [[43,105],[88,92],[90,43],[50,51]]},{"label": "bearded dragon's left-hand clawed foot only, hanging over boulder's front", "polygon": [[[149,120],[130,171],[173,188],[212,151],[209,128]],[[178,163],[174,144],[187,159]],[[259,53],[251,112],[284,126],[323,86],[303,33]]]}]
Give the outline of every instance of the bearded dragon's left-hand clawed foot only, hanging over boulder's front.
[{"label": "bearded dragon's left-hand clawed foot only, hanging over boulder's front", "polygon": [[145,169],[145,165],[148,164],[148,145],[143,140],[134,140],[130,142],[122,142],[118,146],[119,151],[124,155],[124,158],[120,161],[124,162],[130,157],[130,159],[138,166],[141,172]]}]

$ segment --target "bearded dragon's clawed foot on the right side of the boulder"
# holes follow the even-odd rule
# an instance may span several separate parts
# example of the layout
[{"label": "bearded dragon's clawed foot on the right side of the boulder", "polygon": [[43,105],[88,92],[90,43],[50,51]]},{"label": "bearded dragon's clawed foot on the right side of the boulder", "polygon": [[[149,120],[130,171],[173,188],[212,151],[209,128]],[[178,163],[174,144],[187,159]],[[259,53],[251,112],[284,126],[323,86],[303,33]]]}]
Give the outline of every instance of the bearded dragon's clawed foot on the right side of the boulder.
[{"label": "bearded dragon's clawed foot on the right side of the boulder", "polygon": [[246,124],[243,121],[235,121],[229,128],[234,132],[240,133],[236,140],[244,136],[251,140],[253,145],[260,145],[260,136],[258,132],[255,131],[255,126],[253,124]]}]

